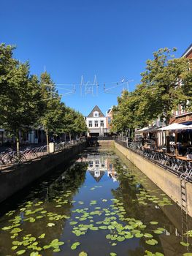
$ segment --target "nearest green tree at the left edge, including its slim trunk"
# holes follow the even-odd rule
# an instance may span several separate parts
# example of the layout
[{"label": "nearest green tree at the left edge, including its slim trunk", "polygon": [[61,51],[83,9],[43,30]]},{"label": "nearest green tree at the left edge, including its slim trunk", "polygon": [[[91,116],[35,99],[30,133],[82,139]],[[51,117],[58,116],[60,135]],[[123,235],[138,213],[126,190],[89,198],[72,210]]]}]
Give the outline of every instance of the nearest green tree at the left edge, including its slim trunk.
[{"label": "nearest green tree at the left edge, including its slim trunk", "polygon": [[12,58],[15,48],[0,45],[0,120],[1,126],[15,135],[19,151],[19,134],[39,116],[39,83],[29,75],[29,64]]}]

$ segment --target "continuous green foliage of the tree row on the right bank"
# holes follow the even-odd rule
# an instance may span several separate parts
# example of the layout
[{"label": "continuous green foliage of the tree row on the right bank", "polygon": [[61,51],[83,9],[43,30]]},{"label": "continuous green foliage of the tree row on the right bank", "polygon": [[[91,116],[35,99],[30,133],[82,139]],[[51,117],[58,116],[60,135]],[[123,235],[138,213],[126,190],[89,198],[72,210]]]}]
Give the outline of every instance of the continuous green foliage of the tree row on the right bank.
[{"label": "continuous green foliage of the tree row on the right bank", "polygon": [[168,123],[179,105],[192,109],[191,61],[175,59],[174,51],[163,48],[153,53],[153,60],[146,61],[141,83],[132,92],[123,91],[113,108],[113,131],[144,127],[158,117]]}]

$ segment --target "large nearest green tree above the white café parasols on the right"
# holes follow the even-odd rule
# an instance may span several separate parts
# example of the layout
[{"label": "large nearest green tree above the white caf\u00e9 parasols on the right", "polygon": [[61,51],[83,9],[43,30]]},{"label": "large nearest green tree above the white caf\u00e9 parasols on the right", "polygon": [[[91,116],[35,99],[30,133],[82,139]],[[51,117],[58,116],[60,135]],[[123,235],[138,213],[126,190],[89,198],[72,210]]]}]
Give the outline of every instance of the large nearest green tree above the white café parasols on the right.
[{"label": "large nearest green tree above the white caf\u00e9 parasols on the right", "polygon": [[146,70],[142,73],[143,104],[139,110],[151,118],[165,118],[166,123],[178,105],[191,108],[191,61],[175,59],[172,55],[175,50],[163,48],[153,53],[153,60],[146,61]]}]

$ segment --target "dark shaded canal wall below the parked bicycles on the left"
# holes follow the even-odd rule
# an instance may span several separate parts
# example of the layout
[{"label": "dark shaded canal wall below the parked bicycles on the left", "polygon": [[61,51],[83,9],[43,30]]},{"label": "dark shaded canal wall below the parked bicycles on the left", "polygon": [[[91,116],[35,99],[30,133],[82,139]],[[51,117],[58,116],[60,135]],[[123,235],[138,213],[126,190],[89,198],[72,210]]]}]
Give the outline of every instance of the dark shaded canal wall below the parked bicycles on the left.
[{"label": "dark shaded canal wall below the parked bicycles on the left", "polygon": [[86,143],[80,143],[64,150],[23,162],[20,165],[5,167],[0,172],[0,203],[11,197],[16,192],[27,187],[41,176],[54,170],[61,164],[66,164],[86,147]]}]

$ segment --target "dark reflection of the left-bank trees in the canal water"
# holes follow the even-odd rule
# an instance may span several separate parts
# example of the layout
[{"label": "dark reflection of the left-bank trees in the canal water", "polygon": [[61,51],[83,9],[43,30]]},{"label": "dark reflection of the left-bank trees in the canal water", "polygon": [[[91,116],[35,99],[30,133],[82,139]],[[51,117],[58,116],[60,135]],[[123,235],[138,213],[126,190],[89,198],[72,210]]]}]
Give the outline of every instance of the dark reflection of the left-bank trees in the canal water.
[{"label": "dark reflection of the left-bank trees in the canal water", "polygon": [[[34,194],[37,192],[34,188],[34,192],[32,195],[28,195],[27,200],[20,208],[15,211],[11,217],[3,217],[2,222],[3,226],[12,225],[12,222],[9,222],[10,219],[15,219],[15,217],[20,216],[22,220],[20,221],[20,228],[22,228],[22,232],[18,234],[17,240],[23,241],[23,236],[27,233],[30,233],[31,236],[37,238],[39,242],[38,246],[44,246],[46,244],[50,244],[55,238],[60,239],[61,235],[64,233],[64,227],[66,224],[66,218],[61,216],[70,217],[71,216],[71,208],[72,208],[72,198],[74,194],[77,192],[77,189],[83,184],[85,181],[85,173],[87,170],[87,164],[85,163],[77,163],[72,165],[65,173],[59,176],[56,180],[53,176],[47,181],[42,182],[42,184],[38,187],[38,194]],[[42,189],[42,191],[41,191]],[[36,195],[36,196],[35,196]],[[42,197],[44,195],[44,198]],[[38,208],[42,208],[41,211],[37,211],[34,214],[26,214],[26,211],[22,212],[20,209],[26,207],[28,202],[31,201],[31,207],[26,208],[31,211],[35,211]],[[38,205],[39,201],[42,201],[40,205]],[[61,203],[61,207],[57,207]],[[37,204],[37,205],[36,205]],[[45,213],[42,214],[42,212]],[[42,219],[37,219],[38,216],[43,216]],[[54,217],[58,217],[58,219],[53,219]],[[30,221],[23,221],[24,219],[28,219],[33,217],[35,221],[31,223]],[[0,219],[1,222],[1,219]],[[47,227],[48,223],[54,223],[55,226]],[[43,239],[39,239],[42,233],[45,233],[46,236]],[[9,231],[4,231],[0,229],[0,255],[13,255],[12,252],[12,239],[10,238],[11,234]],[[3,241],[3,243],[2,243]],[[23,245],[20,246],[19,249],[26,249]],[[32,251],[28,250],[26,253],[28,255]],[[43,252],[44,254],[45,252]],[[53,255],[53,250],[46,250],[46,255]]]}]

